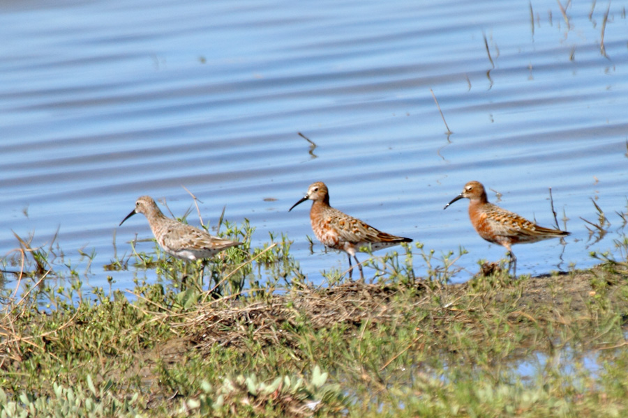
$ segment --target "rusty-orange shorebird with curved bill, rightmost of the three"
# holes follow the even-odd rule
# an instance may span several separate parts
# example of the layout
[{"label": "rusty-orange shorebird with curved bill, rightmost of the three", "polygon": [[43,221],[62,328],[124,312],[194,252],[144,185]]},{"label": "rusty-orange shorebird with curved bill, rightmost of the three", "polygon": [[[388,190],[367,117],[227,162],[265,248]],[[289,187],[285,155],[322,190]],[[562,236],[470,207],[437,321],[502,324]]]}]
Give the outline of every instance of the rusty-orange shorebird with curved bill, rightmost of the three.
[{"label": "rusty-orange shorebird with curved bill, rightmost of the three", "polygon": [[461,194],[454,197],[443,209],[447,209],[451,203],[466,197],[469,203],[469,218],[475,231],[488,242],[502,245],[508,250],[512,273],[517,277],[517,258],[511,245],[537,242],[549,238],[558,238],[569,235],[567,231],[560,229],[544,228],[528,221],[514,212],[500,208],[486,199],[486,191],[482,183],[470,181],[465,185]]}]

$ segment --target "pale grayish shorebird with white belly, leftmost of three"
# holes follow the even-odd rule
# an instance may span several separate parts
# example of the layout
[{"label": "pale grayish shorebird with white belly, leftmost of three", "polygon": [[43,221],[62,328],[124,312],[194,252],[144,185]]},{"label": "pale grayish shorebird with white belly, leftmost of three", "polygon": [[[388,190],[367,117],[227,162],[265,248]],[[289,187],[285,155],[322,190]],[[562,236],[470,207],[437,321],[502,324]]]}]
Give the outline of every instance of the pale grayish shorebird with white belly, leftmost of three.
[{"label": "pale grayish shorebird with white belly, leftmost of three", "polygon": [[122,219],[120,225],[136,213],[143,213],[148,219],[151,231],[160,247],[171,256],[183,260],[195,261],[211,258],[223,249],[242,244],[209,235],[206,231],[166,217],[150,196],[141,196],[137,199],[135,209]]}]

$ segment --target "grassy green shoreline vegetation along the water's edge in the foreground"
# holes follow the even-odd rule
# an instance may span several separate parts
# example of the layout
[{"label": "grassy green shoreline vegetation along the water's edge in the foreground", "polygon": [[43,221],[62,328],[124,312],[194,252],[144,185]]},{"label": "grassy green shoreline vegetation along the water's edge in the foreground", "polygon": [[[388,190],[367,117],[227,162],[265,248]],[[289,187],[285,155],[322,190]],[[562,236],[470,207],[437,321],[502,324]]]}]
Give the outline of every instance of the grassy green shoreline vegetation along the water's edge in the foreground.
[{"label": "grassy green shoreline vegetation along the water's edge in the foreground", "polygon": [[50,251],[20,239],[5,259],[21,274],[2,295],[0,417],[628,415],[625,259],[516,280],[493,266],[453,285],[464,251],[417,243],[371,258],[366,283],[332,270],[316,287],[285,236],[253,248],[252,233],[225,223],[246,244],[204,281],[156,247],[107,266],[137,269],[130,292],[89,296],[70,263],[51,270]]}]

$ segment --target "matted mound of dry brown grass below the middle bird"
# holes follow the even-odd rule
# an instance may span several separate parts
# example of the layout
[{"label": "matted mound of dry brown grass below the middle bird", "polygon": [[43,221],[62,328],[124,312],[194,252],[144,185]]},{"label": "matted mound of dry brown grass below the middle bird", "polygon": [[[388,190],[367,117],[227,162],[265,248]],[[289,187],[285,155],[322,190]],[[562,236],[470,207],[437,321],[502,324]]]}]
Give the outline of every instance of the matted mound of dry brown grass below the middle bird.
[{"label": "matted mound of dry brown grass below the middle bird", "polygon": [[304,320],[314,330],[334,323],[346,324],[347,332],[362,325],[377,327],[396,315],[387,300],[397,292],[397,288],[354,281],[333,288],[302,288],[289,298],[276,295],[264,302],[221,298],[205,304],[184,327],[195,330],[193,340],[202,350],[214,344],[246,348],[251,335],[262,346],[295,346],[297,335],[278,330]]}]

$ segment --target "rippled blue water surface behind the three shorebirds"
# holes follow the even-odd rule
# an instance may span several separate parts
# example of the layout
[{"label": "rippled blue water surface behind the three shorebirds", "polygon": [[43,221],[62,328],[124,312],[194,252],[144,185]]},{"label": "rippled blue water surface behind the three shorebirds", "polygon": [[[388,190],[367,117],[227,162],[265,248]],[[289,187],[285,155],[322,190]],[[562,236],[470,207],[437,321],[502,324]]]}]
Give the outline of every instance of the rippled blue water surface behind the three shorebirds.
[{"label": "rippled blue water surface behind the three shorebirds", "polygon": [[[114,231],[122,256],[150,230],[143,217],[117,225],[142,194],[183,215],[184,185],[206,222],[223,206],[231,221],[250,219],[254,245],[286,233],[320,283],[346,257],[311,254],[309,205],[287,210],[322,180],[333,206],[377,228],[436,254],[467,249],[455,278],[465,281],[480,258],[504,256],[474,233],[467,201],[442,210],[480,180],[489,199],[499,192],[501,206],[545,226],[551,187],[560,226],[569,219],[565,246],[514,247],[518,272],[588,267],[627,210],[626,6],[2,2],[1,252],[17,247],[12,231],[46,245],[58,230],[55,263],[84,268],[79,251],[95,251],[89,284],[111,274],[130,288],[133,270],[103,270]],[[582,219],[597,222],[591,199],[611,222],[597,243]]]}]

